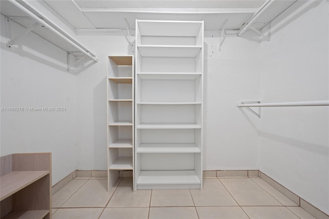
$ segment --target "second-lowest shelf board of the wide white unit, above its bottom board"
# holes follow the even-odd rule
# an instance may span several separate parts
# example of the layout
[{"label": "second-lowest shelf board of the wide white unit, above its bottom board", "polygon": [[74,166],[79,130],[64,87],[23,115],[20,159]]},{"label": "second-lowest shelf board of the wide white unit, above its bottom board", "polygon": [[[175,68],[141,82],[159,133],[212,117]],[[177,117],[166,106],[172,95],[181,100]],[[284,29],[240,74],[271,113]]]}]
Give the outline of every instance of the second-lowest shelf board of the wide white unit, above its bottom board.
[{"label": "second-lowest shelf board of the wide white unit, above its bottom board", "polygon": [[140,144],[137,153],[201,153],[196,144]]}]

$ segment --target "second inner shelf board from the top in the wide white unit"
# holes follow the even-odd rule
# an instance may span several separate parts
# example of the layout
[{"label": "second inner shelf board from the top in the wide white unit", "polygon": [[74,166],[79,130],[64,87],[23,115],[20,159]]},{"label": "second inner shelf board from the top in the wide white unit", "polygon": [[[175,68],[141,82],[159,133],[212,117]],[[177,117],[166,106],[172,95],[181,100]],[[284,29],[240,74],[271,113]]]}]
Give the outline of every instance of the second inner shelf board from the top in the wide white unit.
[{"label": "second inner shelf board from the top in the wide white unit", "polygon": [[137,72],[143,80],[195,80],[201,76],[201,72]]}]

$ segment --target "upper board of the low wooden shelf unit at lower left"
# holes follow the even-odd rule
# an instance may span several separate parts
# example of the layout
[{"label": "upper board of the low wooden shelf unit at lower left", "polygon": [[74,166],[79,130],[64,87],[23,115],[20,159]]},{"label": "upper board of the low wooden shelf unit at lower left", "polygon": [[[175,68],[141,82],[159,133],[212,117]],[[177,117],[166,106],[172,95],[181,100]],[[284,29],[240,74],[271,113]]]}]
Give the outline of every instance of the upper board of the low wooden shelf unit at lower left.
[{"label": "upper board of the low wooden shelf unit at lower left", "polygon": [[1,200],[49,174],[49,171],[13,171],[0,177]]}]

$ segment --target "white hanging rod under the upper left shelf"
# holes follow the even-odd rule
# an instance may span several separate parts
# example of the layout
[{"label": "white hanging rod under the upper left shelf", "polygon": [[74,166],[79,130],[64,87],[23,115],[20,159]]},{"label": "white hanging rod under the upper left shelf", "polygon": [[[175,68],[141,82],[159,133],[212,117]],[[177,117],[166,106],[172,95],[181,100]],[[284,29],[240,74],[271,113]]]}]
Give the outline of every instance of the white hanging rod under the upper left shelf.
[{"label": "white hanging rod under the upper left shelf", "polygon": [[25,8],[23,5],[21,5],[20,3],[17,3],[15,0],[10,0],[9,1],[11,4],[13,4],[15,7],[21,9],[23,12],[25,12],[32,20],[34,20],[35,22],[39,23],[41,26],[46,27],[50,30],[52,30],[54,33],[56,33],[57,35],[59,35],[62,39],[64,39],[66,42],[68,42],[69,44],[71,44],[72,46],[76,47],[79,51],[81,51],[83,54],[85,54],[87,57],[89,57],[90,59],[94,60],[95,62],[98,62],[98,59],[94,56],[92,56],[92,54],[90,54],[89,52],[87,52],[85,49],[81,48],[79,45],[77,45],[75,42],[72,42],[70,39],[68,39],[65,35],[63,35],[61,32],[59,32],[58,30],[54,29],[53,27],[51,27],[50,25],[48,25],[45,21],[43,21],[40,17],[36,16],[34,13],[32,13],[31,11],[29,11],[27,8]]}]

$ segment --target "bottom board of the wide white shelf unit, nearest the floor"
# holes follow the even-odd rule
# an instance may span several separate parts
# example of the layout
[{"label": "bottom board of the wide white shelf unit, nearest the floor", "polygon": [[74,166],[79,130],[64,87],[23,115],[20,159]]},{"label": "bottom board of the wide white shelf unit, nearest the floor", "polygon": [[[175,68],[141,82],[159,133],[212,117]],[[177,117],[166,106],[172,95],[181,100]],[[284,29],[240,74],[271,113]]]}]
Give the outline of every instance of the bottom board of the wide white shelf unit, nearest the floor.
[{"label": "bottom board of the wide white shelf unit, nearest the floor", "polygon": [[194,170],[141,171],[137,185],[200,184]]}]

